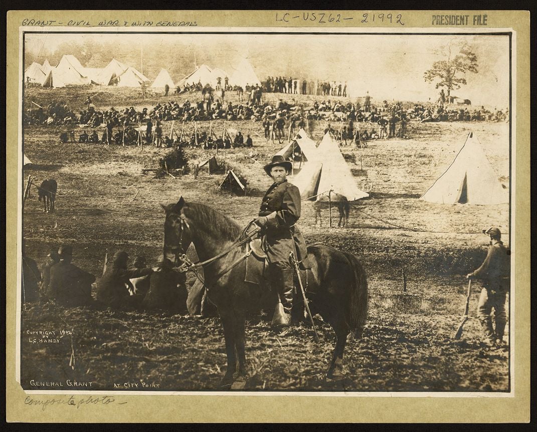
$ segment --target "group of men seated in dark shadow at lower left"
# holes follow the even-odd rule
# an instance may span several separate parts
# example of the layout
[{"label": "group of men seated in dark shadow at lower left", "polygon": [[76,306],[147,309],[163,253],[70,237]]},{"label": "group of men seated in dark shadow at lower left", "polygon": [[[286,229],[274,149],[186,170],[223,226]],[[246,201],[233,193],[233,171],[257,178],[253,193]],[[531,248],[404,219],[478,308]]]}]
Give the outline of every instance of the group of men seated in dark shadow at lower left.
[{"label": "group of men seated in dark shadow at lower left", "polygon": [[173,269],[163,255],[157,258],[155,267],[149,267],[146,258],[137,256],[129,268],[129,255],[117,251],[99,279],[95,299],[92,296],[95,275],[77,267],[72,258],[71,246],[53,247],[39,269],[23,248],[24,304],[49,301],[63,307],[186,313],[185,273]]}]

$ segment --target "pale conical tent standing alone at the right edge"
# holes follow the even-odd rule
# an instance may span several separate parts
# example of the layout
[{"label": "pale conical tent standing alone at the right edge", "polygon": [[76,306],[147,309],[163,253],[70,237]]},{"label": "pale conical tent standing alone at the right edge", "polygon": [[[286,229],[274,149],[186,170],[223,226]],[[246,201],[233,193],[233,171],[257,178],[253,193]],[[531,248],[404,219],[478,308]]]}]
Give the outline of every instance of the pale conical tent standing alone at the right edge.
[{"label": "pale conical tent standing alone at the right edge", "polygon": [[451,165],[419,199],[440,204],[502,204],[509,203],[509,190],[470,132]]}]

